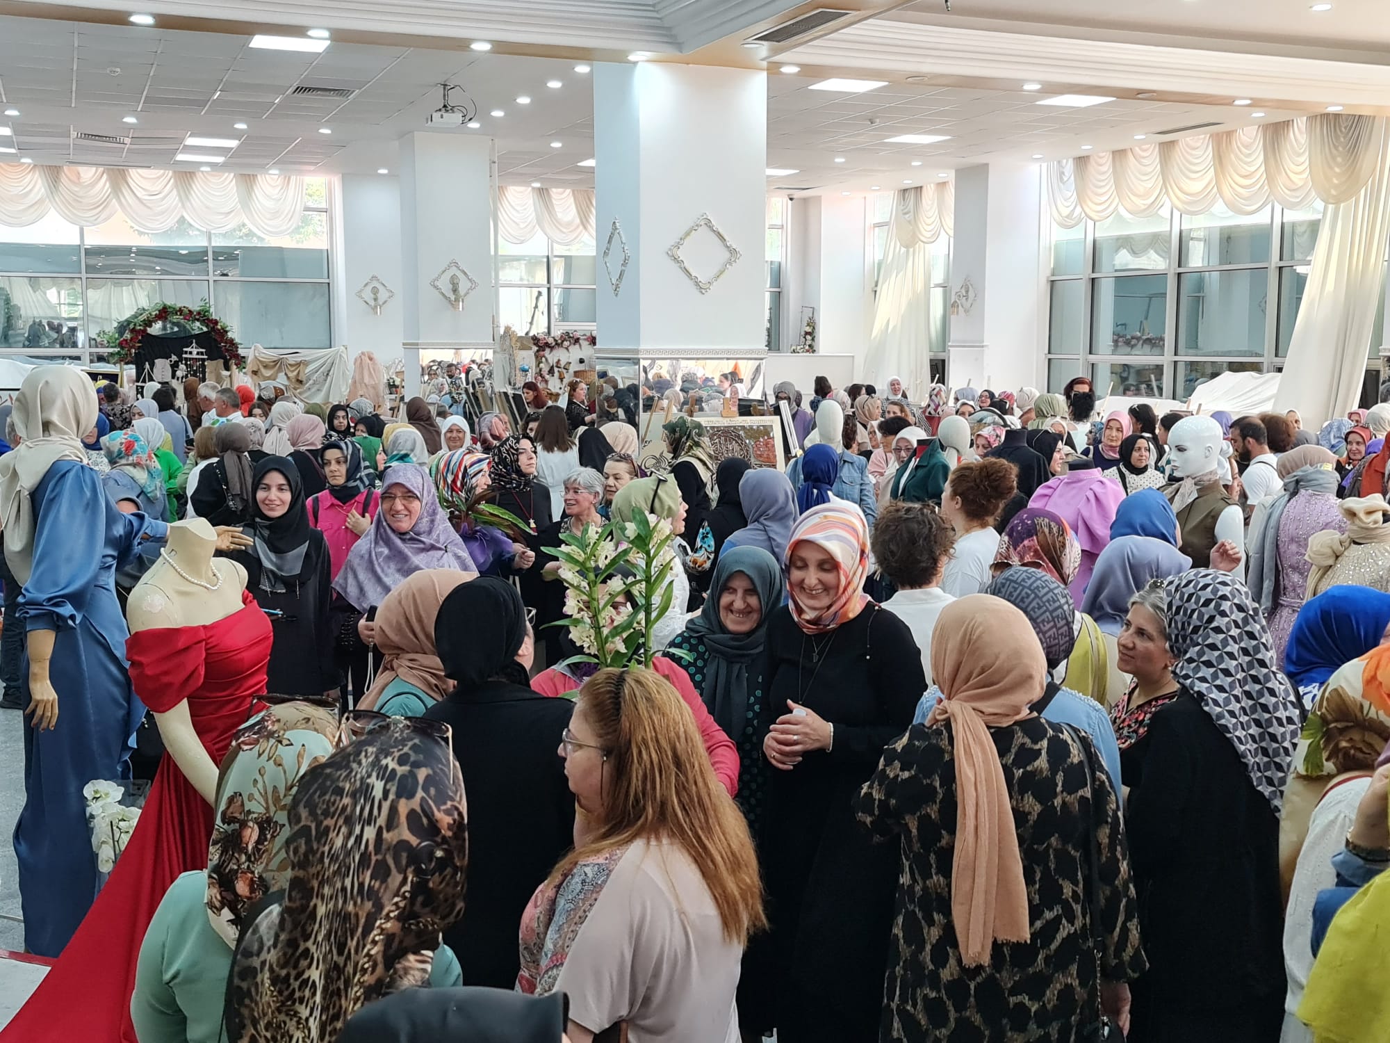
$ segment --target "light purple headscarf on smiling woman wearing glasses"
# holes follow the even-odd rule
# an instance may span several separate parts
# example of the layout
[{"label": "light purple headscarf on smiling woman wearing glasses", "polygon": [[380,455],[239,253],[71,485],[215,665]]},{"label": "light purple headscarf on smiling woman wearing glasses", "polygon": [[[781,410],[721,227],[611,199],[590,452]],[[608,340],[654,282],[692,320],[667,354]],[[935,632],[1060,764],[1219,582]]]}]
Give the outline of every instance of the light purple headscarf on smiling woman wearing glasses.
[{"label": "light purple headscarf on smiling woman wearing glasses", "polygon": [[420,498],[420,517],[409,533],[398,533],[386,523],[382,505],[367,535],[348,553],[334,590],[359,612],[379,605],[407,576],[421,569],[457,569],[477,572],[459,534],[439,506],[430,473],[416,463],[398,463],[386,469],[382,492],[404,485]]}]

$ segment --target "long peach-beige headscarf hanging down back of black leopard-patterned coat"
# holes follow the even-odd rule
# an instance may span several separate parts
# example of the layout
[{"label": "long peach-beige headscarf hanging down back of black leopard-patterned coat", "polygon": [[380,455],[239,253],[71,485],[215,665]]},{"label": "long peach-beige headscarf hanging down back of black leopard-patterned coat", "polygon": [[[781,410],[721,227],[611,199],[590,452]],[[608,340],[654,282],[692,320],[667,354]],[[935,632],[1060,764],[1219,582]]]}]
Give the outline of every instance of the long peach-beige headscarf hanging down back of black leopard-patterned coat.
[{"label": "long peach-beige headscarf hanging down back of black leopard-patterned coat", "polygon": [[956,762],[951,921],[962,960],[979,967],[990,962],[995,941],[1029,940],[1023,858],[990,729],[1031,713],[1047,684],[1047,659],[1027,616],[1002,598],[970,594],[937,617],[931,676],[941,701],[927,725],[951,722]]}]

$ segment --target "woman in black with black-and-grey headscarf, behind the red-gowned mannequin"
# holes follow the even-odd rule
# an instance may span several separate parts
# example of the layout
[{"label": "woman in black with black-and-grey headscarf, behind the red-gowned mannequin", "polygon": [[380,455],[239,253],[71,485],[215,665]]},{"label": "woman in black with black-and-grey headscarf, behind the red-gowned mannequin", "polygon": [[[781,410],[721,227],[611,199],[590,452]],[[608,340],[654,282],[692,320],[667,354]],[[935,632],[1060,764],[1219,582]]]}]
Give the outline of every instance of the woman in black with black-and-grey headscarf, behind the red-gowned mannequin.
[{"label": "woman in black with black-and-grey headscarf, behind the red-gowned mannequin", "polygon": [[284,456],[267,456],[252,471],[243,533],[252,547],[228,556],[246,569],[246,590],[275,631],[265,690],[321,701],[338,690],[328,544],[309,523],[299,470]]}]

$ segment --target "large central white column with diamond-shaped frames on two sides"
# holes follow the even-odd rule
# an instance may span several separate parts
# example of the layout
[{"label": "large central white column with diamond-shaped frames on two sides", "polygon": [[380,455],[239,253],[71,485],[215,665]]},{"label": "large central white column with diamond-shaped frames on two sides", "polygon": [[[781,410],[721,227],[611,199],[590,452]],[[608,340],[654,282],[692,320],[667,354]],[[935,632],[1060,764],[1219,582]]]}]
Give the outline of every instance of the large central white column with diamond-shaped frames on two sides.
[{"label": "large central white column with diamond-shaped frames on two sides", "polygon": [[[603,355],[638,349],[721,357],[762,352],[766,267],[767,78],[751,70],[666,63],[595,64],[598,330]],[[701,289],[667,256],[708,216],[738,260]],[[603,271],[619,275],[619,293]],[[712,280],[730,252],[710,228],[681,246]]]}]

